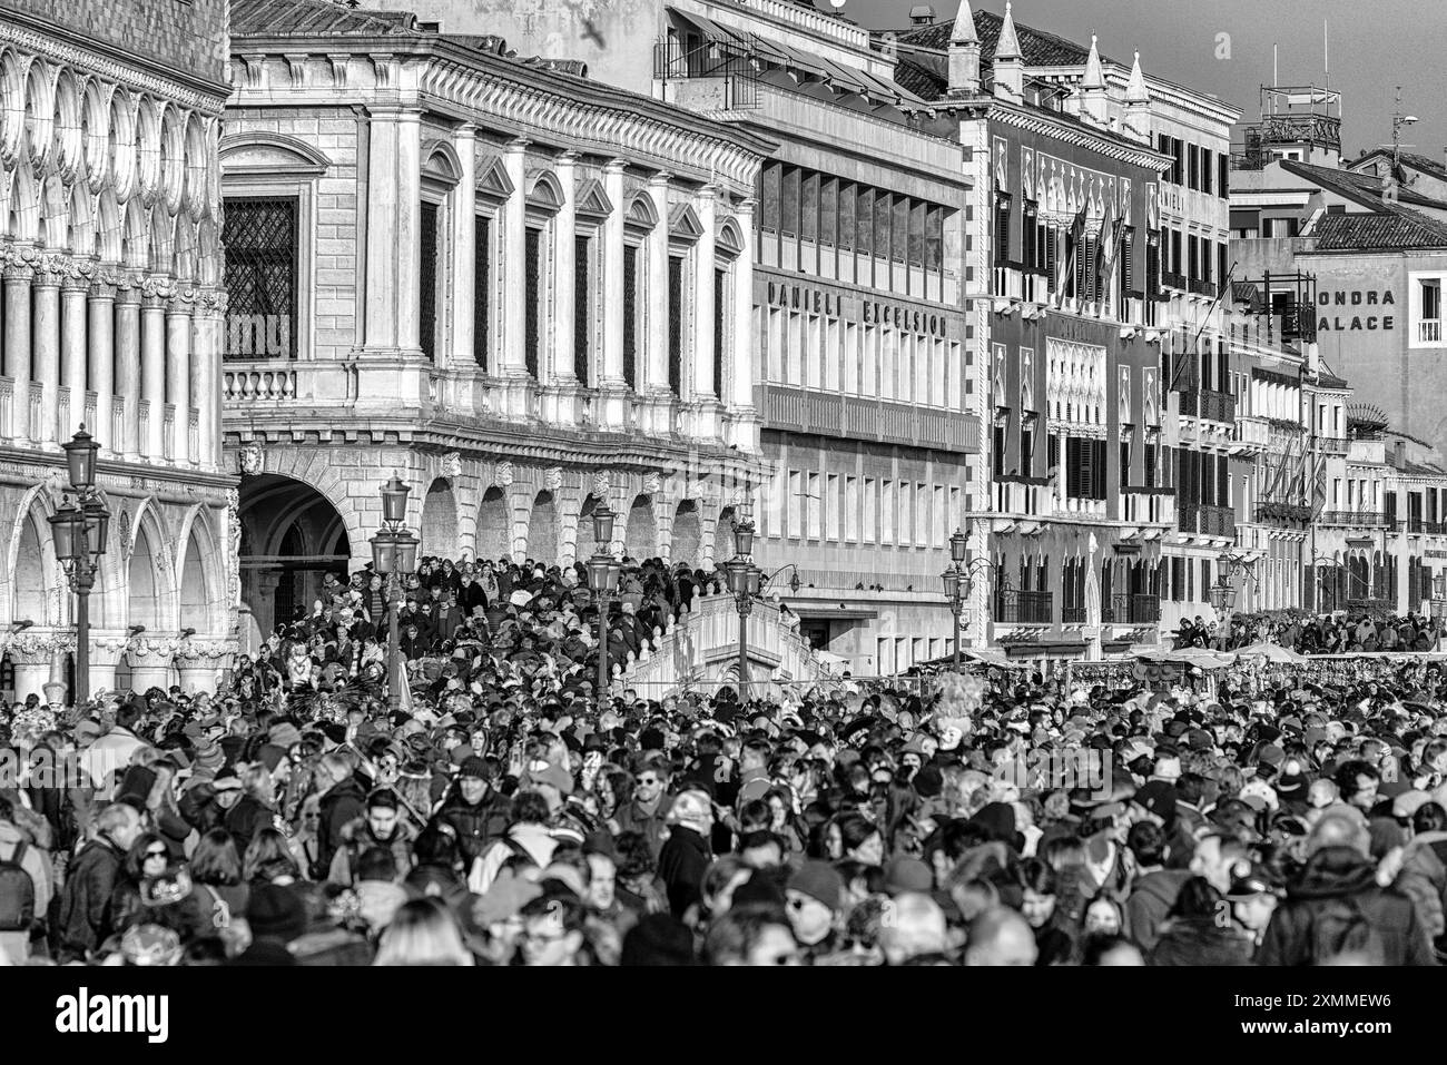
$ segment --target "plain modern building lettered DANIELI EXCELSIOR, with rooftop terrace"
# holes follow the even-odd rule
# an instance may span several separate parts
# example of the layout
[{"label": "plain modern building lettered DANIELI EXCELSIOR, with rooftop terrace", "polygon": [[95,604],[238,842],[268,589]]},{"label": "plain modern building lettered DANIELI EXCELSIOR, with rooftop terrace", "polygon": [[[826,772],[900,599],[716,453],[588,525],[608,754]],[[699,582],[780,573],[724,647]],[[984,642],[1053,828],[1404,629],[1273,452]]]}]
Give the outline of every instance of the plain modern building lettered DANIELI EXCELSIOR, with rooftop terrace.
[{"label": "plain modern building lettered DANIELI EXCELSIOR, with rooftop terrace", "polygon": [[751,240],[770,469],[755,560],[810,642],[855,674],[945,654],[948,538],[985,491],[967,392],[968,177],[894,56],[786,0],[425,10],[777,145]]}]

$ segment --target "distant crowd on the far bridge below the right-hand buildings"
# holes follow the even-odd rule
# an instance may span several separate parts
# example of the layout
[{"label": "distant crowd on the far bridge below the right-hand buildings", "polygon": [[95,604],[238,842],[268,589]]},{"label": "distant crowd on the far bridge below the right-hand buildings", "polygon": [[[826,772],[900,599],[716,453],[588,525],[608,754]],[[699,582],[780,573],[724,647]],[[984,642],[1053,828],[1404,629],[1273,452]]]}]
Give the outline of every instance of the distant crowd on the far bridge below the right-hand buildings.
[{"label": "distant crowd on the far bridge below the right-hand buildings", "polygon": [[1297,654],[1425,653],[1437,650],[1441,631],[1440,618],[1417,614],[1270,611],[1231,615],[1224,625],[1197,615],[1181,622],[1175,648],[1237,651],[1276,644]]}]

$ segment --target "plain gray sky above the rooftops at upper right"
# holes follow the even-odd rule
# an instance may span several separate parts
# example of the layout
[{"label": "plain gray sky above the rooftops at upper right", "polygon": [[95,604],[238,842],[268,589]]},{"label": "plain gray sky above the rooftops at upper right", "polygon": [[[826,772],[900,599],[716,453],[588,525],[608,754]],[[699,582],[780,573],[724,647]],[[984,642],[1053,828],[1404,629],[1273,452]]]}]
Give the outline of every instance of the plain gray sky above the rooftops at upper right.
[{"label": "plain gray sky above the rooftops at upper right", "polygon": [[[959,0],[929,0],[954,17]],[[828,9],[828,0],[818,0]],[[862,26],[909,23],[913,0],[848,0],[844,13]],[[1004,0],[977,9],[1004,12]],[[1171,81],[1215,93],[1242,110],[1260,113],[1260,85],[1272,84],[1276,43],[1279,84],[1323,84],[1323,23],[1330,43],[1331,87],[1343,94],[1343,150],[1392,140],[1396,84],[1402,110],[1421,122],[1402,142],[1443,159],[1447,145],[1447,4],[1441,0],[1019,0],[1014,17],[1082,43],[1100,35],[1100,49]],[[1229,35],[1230,58],[1217,35]]]}]

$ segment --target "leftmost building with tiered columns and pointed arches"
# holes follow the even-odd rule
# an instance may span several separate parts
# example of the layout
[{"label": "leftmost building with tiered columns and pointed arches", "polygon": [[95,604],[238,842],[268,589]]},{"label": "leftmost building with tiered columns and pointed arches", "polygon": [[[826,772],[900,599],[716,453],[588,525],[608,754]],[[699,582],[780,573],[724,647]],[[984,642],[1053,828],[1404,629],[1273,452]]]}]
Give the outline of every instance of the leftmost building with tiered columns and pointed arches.
[{"label": "leftmost building with tiered columns and pointed arches", "polygon": [[217,137],[224,0],[0,1],[0,692],[74,682],[46,518],[61,443],[101,446],[110,540],[91,687],[229,664],[234,478],[220,466]]}]

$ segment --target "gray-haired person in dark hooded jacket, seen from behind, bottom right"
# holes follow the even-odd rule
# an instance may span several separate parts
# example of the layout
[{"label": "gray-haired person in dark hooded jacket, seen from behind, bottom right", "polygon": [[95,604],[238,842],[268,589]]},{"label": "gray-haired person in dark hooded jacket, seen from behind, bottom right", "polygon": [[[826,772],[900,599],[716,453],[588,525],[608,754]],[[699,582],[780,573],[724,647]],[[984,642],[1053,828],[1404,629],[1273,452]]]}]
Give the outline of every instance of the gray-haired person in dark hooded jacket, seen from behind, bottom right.
[{"label": "gray-haired person in dark hooded jacket, seen from behind, bottom right", "polygon": [[1327,965],[1344,955],[1375,965],[1435,965],[1412,900],[1378,878],[1366,818],[1338,803],[1307,839],[1307,864],[1286,886],[1256,954],[1257,965]]}]

